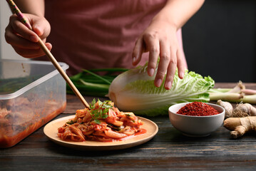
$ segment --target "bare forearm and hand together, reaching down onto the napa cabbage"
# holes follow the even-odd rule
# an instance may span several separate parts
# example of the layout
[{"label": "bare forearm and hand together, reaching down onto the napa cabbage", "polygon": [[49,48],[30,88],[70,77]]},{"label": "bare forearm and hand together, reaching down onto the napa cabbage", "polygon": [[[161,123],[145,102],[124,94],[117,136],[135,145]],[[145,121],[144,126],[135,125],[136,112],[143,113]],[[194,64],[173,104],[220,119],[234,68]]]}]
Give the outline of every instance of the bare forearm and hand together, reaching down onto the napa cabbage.
[{"label": "bare forearm and hand together, reaching down onto the napa cabbage", "polygon": [[165,78],[165,89],[173,83],[176,68],[178,76],[183,78],[186,62],[183,51],[178,45],[176,31],[181,28],[203,5],[205,0],[168,0],[162,10],[155,15],[150,26],[140,35],[133,48],[133,65],[137,65],[144,52],[149,51],[148,75],[155,76],[155,86],[160,87]]}]

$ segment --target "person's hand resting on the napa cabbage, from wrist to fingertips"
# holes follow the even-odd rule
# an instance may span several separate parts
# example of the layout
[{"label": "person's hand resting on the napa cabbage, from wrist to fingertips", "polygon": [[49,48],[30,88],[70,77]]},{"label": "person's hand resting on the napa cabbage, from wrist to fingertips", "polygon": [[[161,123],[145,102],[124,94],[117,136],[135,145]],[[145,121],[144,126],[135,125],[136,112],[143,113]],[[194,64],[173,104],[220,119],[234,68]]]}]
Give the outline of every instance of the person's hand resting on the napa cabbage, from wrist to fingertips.
[{"label": "person's hand resting on the napa cabbage, from wrist to fingertips", "polygon": [[167,90],[172,86],[176,68],[178,67],[178,76],[183,78],[186,67],[176,32],[177,28],[167,21],[153,19],[133,48],[134,66],[140,62],[142,53],[149,52],[148,76],[154,75],[158,56],[160,56],[154,83],[155,86],[160,87],[166,73],[165,89]]}]

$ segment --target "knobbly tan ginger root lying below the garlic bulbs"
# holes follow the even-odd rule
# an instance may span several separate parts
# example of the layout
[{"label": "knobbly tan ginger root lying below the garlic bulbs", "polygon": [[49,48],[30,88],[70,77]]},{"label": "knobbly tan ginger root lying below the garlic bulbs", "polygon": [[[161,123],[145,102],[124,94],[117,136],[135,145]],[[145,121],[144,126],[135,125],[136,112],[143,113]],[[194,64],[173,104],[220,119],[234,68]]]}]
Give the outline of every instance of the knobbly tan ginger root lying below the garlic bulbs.
[{"label": "knobbly tan ginger root lying below the garlic bulbs", "polygon": [[224,120],[225,128],[231,130],[232,138],[239,138],[248,131],[256,130],[256,116],[247,116],[245,118],[227,118]]}]

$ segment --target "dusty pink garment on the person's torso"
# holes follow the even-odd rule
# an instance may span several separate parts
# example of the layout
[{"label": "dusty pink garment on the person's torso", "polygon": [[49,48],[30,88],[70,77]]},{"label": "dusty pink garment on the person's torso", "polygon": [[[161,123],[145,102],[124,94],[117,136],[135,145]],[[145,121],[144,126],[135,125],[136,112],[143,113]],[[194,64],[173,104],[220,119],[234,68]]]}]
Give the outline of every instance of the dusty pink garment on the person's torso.
[{"label": "dusty pink garment on the person's torso", "polygon": [[[133,68],[138,36],[166,0],[46,0],[51,24],[47,41],[57,61],[68,63],[68,75],[81,68]],[[181,31],[178,40],[182,47]],[[42,58],[39,58],[42,60]],[[148,61],[143,54],[140,65]]]}]

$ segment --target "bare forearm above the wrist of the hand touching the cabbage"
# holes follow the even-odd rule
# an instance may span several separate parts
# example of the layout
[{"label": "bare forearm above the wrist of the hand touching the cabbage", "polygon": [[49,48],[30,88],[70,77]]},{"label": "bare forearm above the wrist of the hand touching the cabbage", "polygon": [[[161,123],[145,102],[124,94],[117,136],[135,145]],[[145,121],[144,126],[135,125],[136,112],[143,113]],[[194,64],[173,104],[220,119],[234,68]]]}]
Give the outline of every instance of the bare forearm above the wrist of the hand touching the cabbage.
[{"label": "bare forearm above the wrist of the hand touching the cabbage", "polygon": [[178,30],[200,9],[204,1],[168,0],[165,7],[154,17],[153,21],[168,22]]}]

